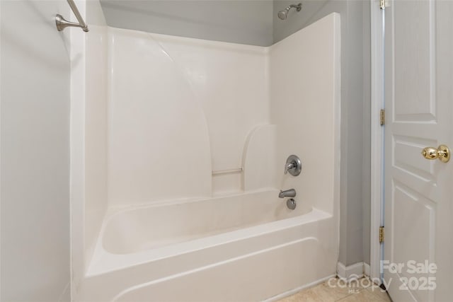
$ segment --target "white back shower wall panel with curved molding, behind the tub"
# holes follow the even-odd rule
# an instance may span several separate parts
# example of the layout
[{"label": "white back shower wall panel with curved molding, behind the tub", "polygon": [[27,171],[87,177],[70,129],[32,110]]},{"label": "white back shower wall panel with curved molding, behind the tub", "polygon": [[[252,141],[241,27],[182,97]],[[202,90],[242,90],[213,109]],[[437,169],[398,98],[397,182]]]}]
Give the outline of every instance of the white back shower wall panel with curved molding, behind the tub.
[{"label": "white back shower wall panel with curved molding, behind the tub", "polygon": [[109,28],[110,205],[242,190],[248,133],[269,122],[265,47]]}]

